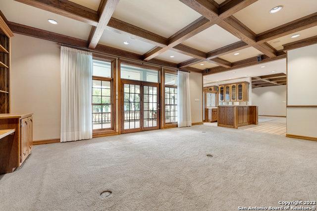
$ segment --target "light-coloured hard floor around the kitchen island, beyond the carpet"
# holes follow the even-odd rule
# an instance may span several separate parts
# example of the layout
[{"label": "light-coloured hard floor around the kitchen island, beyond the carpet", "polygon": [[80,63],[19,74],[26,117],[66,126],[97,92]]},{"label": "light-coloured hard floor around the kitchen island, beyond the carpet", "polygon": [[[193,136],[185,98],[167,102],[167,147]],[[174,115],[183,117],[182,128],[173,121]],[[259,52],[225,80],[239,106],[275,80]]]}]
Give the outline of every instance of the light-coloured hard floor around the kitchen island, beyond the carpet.
[{"label": "light-coloured hard floor around the kitchen island, beyond the carpet", "polygon": [[[204,123],[205,125],[217,126],[217,122]],[[264,117],[259,116],[258,125],[247,125],[239,127],[238,130],[249,130],[260,133],[269,133],[276,135],[286,135],[286,118],[285,117]]]}]

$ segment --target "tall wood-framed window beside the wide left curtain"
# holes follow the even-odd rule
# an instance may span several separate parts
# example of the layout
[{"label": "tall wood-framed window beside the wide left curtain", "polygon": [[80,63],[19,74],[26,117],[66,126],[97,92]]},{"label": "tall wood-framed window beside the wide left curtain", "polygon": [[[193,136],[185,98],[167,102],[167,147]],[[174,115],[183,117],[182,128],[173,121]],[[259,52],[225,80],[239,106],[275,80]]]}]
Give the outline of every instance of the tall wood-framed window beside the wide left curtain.
[{"label": "tall wood-framed window beside the wide left curtain", "polygon": [[92,124],[93,130],[112,129],[112,62],[93,59]]}]

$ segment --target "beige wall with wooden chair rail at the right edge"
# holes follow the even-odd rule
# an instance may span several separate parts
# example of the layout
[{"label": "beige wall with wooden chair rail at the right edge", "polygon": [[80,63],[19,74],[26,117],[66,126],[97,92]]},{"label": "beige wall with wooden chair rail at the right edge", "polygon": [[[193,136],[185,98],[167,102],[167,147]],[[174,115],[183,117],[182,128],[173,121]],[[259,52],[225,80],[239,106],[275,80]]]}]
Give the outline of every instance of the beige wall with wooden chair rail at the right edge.
[{"label": "beige wall with wooden chair rail at the right edge", "polygon": [[[317,106],[317,44],[287,52],[287,106]],[[317,138],[317,108],[288,107],[287,134]]]}]

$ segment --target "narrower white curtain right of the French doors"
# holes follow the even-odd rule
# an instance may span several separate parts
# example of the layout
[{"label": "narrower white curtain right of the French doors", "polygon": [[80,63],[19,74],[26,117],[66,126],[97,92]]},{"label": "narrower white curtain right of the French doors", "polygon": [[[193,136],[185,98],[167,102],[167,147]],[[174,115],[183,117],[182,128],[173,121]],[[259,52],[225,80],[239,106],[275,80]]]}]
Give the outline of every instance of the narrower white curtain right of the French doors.
[{"label": "narrower white curtain right of the French doors", "polygon": [[178,127],[192,126],[190,112],[189,72],[178,71]]}]

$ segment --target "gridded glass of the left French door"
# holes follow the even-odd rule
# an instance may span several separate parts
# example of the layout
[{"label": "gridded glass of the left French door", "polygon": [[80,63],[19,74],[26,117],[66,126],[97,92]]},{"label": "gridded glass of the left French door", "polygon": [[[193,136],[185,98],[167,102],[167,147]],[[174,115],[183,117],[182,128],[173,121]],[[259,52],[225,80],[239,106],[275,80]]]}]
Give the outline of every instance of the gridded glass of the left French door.
[{"label": "gridded glass of the left French door", "polygon": [[140,85],[124,84],[124,129],[140,128]]}]

